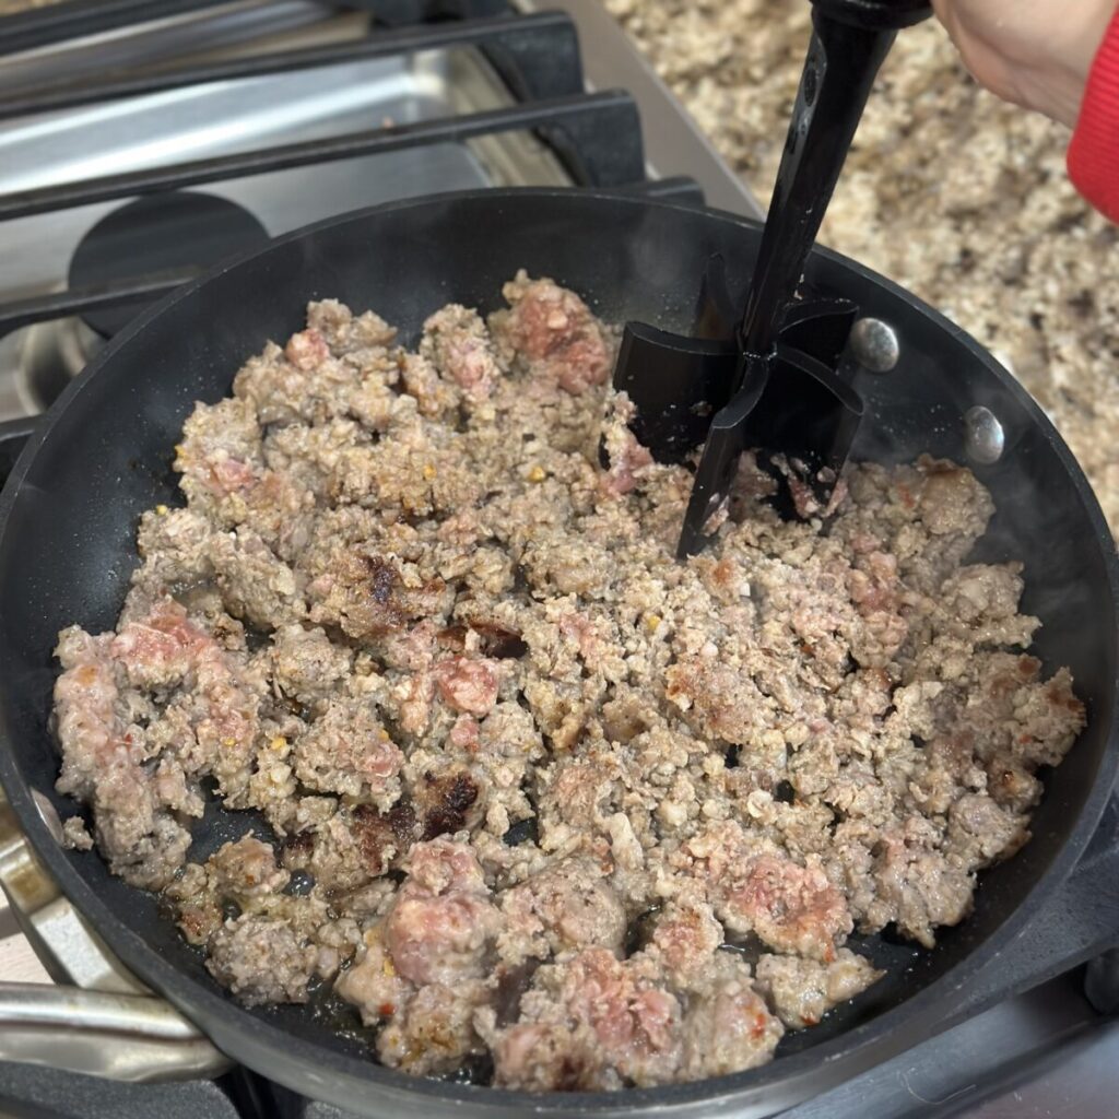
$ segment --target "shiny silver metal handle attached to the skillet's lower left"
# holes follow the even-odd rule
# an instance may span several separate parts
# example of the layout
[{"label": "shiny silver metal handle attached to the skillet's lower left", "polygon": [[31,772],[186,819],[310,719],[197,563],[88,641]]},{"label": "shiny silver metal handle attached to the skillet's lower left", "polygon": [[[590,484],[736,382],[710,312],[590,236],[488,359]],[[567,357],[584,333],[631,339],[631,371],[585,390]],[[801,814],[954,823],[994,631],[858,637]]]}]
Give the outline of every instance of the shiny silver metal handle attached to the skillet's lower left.
[{"label": "shiny silver metal handle attached to the skillet's lower left", "polygon": [[[54,807],[38,793],[36,802],[60,838]],[[58,984],[0,982],[0,1061],[126,1081],[209,1078],[232,1068],[90,930],[35,857],[2,792],[0,887]]]}]

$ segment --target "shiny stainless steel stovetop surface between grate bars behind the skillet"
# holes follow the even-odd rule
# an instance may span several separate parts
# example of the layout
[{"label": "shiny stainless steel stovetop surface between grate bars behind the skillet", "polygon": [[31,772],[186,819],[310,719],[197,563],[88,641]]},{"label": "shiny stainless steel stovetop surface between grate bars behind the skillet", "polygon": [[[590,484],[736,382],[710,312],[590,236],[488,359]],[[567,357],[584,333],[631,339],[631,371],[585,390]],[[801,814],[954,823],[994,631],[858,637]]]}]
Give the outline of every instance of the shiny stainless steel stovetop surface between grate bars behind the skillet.
[{"label": "shiny stainless steel stovetop surface between grate bars behind the skillet", "polygon": [[[702,185],[712,205],[761,213],[595,0],[566,4],[523,0],[519,8],[525,13],[567,10],[577,19],[581,43],[592,46],[583,50],[586,86],[624,86],[633,95],[645,124],[650,177],[686,173]],[[368,26],[367,15],[325,17],[321,4],[307,0],[239,0],[131,30],[0,57],[0,192],[18,196],[58,189],[187,160],[327,141],[382,125],[462,119],[516,104],[517,98],[478,50],[426,49],[241,81],[209,81],[15,119],[4,106],[6,95],[49,85],[60,74],[74,82],[121,67],[135,69],[140,63],[147,72],[170,60],[206,65],[231,55],[293,48],[329,51],[331,46],[346,51],[367,37]],[[308,167],[223,177],[194,189],[237,203],[274,235],[333,214],[432,190],[572,182],[571,170],[548,145],[516,131],[466,143],[435,141]],[[0,304],[65,290],[83,234],[126,197],[4,222]],[[6,213],[0,207],[0,218]],[[41,412],[101,341],[74,316],[0,337],[0,421]]]}]

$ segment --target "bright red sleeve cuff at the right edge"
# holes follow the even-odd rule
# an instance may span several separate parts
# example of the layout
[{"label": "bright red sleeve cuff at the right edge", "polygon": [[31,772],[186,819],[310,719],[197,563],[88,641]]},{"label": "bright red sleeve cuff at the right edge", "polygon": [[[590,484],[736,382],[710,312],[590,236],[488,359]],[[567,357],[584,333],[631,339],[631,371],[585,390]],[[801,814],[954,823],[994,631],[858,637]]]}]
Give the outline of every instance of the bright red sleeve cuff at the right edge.
[{"label": "bright red sleeve cuff at the right edge", "polygon": [[1088,75],[1068,164],[1073,186],[1119,223],[1119,9]]}]

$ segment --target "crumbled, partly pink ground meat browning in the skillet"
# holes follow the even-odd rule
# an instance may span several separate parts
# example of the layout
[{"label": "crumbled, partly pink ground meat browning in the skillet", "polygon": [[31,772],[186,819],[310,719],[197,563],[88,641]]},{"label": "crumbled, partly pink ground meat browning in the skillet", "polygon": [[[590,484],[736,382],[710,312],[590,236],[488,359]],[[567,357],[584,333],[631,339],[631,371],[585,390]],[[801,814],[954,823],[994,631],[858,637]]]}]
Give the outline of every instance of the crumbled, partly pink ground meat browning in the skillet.
[{"label": "crumbled, partly pink ground meat browning in the skillet", "polygon": [[[969,471],[854,467],[824,534],[747,457],[677,563],[690,474],[630,434],[611,336],[505,295],[415,351],[312,303],[196,407],[116,631],[60,634],[58,788],[237,998],[332,984],[386,1064],[749,1069],[878,978],[853,931],[967,915],[1083,708],[1025,651],[1021,565],[967,563]],[[188,862],[204,780],[274,841]]]}]

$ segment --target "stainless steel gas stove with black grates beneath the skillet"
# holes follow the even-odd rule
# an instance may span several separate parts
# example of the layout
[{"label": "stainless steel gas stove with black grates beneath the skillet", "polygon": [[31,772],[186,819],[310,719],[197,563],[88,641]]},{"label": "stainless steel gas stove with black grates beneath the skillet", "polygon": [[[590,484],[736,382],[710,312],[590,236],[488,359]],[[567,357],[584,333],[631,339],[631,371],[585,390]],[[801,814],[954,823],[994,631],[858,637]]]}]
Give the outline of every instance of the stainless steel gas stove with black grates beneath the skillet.
[{"label": "stainless steel gas stove with black grates beneath the skillet", "polygon": [[[516,185],[761,215],[598,0],[0,0],[0,482],[105,341],[213,261],[379,201]],[[346,1119],[232,1068],[141,988],[2,802],[0,883],[0,1116]],[[1113,801],[923,1044],[787,1117],[1119,1113],[1117,944]]]}]

